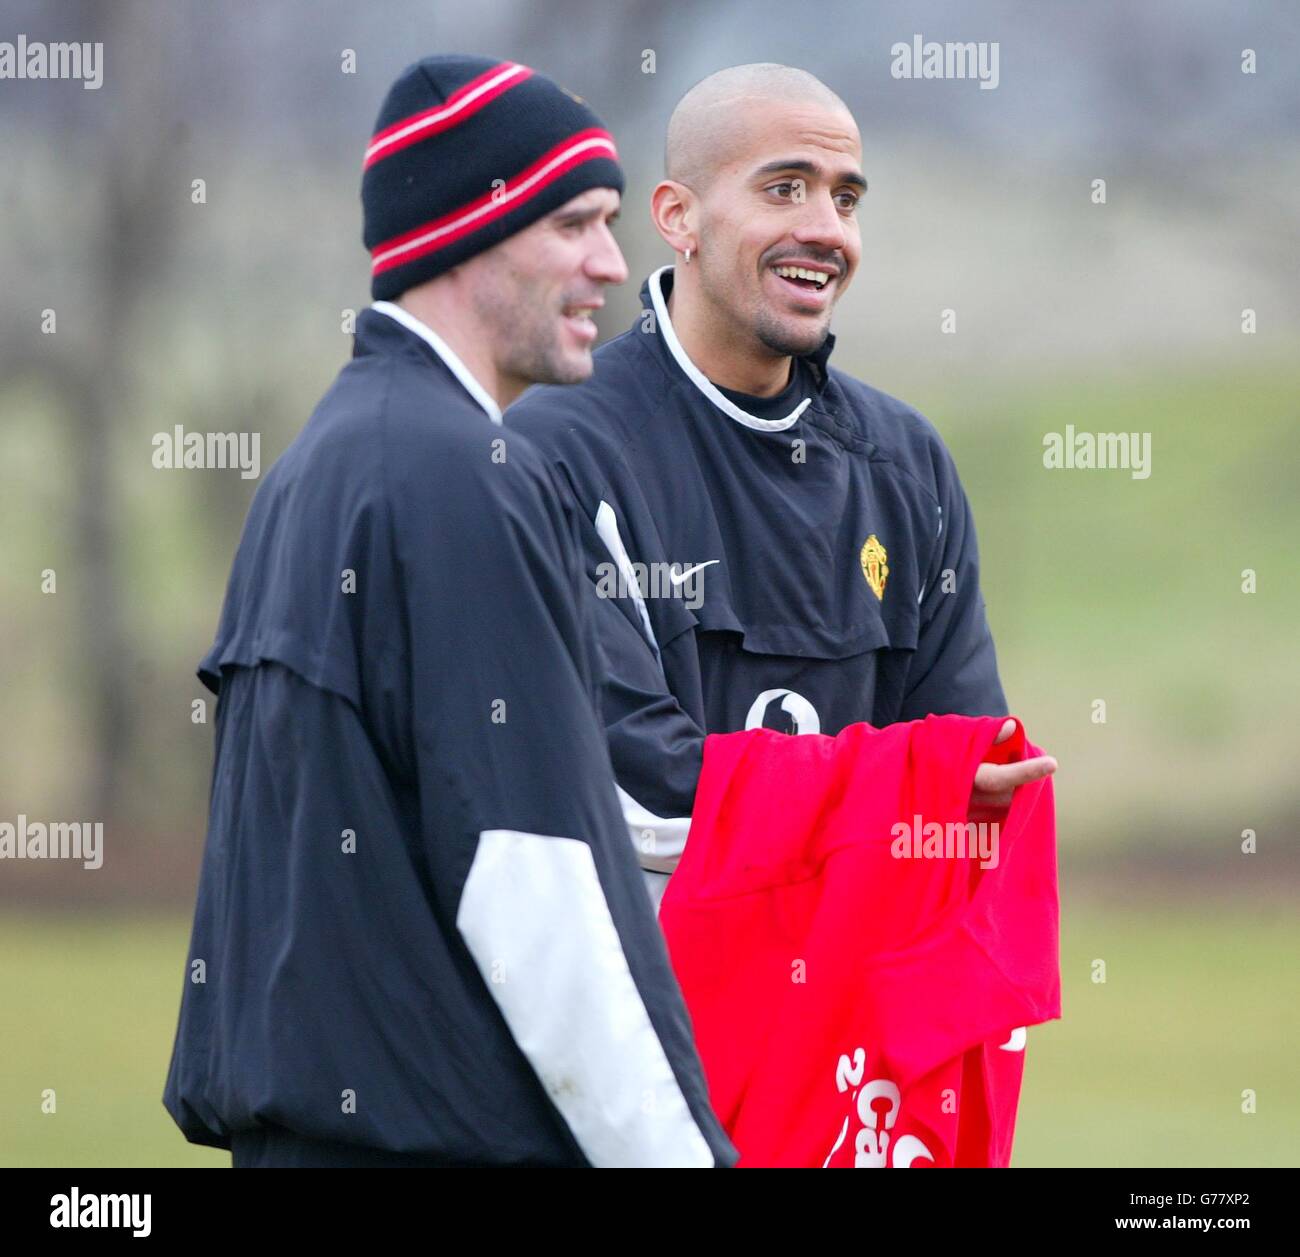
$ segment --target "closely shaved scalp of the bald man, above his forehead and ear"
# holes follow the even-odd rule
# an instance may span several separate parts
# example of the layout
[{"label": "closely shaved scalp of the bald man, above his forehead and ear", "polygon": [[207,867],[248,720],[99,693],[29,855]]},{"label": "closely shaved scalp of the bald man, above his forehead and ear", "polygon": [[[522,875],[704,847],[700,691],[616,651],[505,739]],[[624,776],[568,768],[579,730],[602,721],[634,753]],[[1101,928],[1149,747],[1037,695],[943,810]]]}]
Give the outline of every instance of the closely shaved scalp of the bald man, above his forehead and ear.
[{"label": "closely shaved scalp of the bald man, above his forehead and ear", "polygon": [[745,127],[744,103],[762,100],[816,104],[849,113],[849,107],[815,74],[774,61],[733,65],[701,79],[672,110],[664,144],[664,174],[703,191]]}]

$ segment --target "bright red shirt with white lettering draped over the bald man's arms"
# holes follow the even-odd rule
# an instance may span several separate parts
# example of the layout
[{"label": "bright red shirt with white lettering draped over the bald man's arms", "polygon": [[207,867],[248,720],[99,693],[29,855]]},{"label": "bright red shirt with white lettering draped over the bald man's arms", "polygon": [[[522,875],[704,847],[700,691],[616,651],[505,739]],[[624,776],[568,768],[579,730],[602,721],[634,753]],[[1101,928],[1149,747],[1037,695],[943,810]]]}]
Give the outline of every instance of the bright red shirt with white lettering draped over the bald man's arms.
[{"label": "bright red shirt with white lettering draped over the bald man's arms", "polygon": [[996,848],[892,853],[966,820],[982,760],[1041,754],[1002,724],[706,740],[659,922],[742,1166],[1009,1163],[1022,1028],[1061,1015],[1052,781]]}]

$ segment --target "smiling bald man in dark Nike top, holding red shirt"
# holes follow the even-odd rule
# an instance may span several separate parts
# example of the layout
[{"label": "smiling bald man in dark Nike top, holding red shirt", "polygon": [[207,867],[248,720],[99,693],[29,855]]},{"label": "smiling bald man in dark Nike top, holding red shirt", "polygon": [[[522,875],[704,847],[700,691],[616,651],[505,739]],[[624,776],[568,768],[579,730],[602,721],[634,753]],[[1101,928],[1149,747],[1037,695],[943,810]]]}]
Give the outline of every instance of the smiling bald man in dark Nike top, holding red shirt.
[{"label": "smiling bald man in dark Nike top, holding red shirt", "polygon": [[[679,264],[650,276],[592,380],[507,416],[576,498],[598,594],[611,564],[679,577],[597,599],[606,728],[656,900],[705,734],[1006,714],[944,442],[829,365],[862,253],[853,116],[803,70],[722,70],[673,112],[666,175],[651,212]],[[982,766],[972,818],[1053,770]]]}]

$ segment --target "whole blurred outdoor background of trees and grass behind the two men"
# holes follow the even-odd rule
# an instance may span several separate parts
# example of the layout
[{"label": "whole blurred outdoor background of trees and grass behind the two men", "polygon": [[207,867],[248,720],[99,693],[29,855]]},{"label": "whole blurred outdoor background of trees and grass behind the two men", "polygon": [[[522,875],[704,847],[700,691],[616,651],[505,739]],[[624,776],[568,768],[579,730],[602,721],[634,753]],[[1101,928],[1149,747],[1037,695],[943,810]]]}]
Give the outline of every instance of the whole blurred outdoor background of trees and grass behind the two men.
[{"label": "whole blurred outdoor background of trees and grass behind the two men", "polygon": [[[359,157],[380,99],[452,49],[537,65],[618,136],[633,282],[603,335],[668,260],[645,207],[686,87],[781,60],[854,109],[871,190],[835,360],[948,439],[1009,701],[1061,762],[1065,1017],[1030,1032],[1015,1162],[1300,1160],[1291,9],[5,12],[30,39],[104,40],[105,82],[0,82],[0,820],[101,819],[105,861],[0,862],[0,1165],[229,1163],[160,1096],[211,770],[194,667],[256,481],[156,471],[151,438],[259,432],[263,471],[289,443],[367,300]],[[998,88],[892,79],[889,45],[918,25],[998,40]],[[1067,424],[1149,433],[1150,477],[1044,468]]]}]

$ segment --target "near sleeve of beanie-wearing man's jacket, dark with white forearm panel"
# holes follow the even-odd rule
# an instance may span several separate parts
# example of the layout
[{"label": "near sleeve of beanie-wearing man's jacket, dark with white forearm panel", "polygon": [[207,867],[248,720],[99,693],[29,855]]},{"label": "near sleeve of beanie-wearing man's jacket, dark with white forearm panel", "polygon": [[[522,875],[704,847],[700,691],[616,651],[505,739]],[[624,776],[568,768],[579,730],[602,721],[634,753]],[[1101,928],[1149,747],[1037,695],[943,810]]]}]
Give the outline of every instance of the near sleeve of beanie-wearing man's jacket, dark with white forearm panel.
[{"label": "near sleeve of beanie-wearing man's jacket, dark with white forearm panel", "polygon": [[731,1165],[615,797],[572,525],[526,438],[504,450],[390,469],[437,909],[593,1165]]}]

